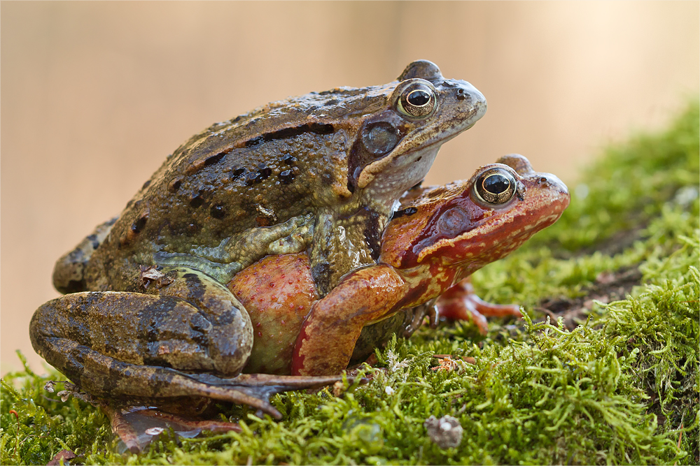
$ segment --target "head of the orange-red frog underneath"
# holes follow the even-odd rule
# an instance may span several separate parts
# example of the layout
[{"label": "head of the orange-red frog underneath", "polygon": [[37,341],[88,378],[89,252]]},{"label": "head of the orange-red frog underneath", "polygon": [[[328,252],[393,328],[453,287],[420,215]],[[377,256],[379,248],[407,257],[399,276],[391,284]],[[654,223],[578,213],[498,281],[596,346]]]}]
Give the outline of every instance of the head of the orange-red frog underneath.
[{"label": "head of the orange-red frog underneath", "polygon": [[511,154],[482,166],[470,180],[423,191],[402,205],[384,233],[381,261],[411,268],[425,261],[470,275],[552,225],[568,206],[566,185]]}]

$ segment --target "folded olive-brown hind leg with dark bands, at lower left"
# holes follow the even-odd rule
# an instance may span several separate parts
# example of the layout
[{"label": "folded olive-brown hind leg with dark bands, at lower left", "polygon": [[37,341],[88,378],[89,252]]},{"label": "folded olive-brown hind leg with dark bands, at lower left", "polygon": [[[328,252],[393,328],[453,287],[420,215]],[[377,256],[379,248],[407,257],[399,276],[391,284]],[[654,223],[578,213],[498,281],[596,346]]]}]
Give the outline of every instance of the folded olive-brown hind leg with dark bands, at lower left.
[{"label": "folded olive-brown hind leg with dark bands, at lower left", "polygon": [[74,293],[41,306],[29,329],[34,349],[81,390],[134,404],[205,397],[279,417],[269,395],[300,382],[323,384],[233,377],[250,354],[253,330],[232,293],[190,268],[142,276],[145,293]]}]

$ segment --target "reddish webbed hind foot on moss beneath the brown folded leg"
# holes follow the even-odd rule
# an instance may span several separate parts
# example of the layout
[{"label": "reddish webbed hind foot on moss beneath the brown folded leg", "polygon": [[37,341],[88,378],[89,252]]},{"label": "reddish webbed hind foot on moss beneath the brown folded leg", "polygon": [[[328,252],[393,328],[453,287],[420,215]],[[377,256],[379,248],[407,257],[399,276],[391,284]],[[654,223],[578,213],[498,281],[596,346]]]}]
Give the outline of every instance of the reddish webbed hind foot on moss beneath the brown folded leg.
[{"label": "reddish webbed hind foot on moss beneath the brown folded leg", "polygon": [[109,417],[112,433],[117,435],[120,443],[119,453],[130,451],[139,453],[158,438],[162,432],[172,429],[177,437],[192,438],[203,430],[209,432],[241,432],[237,423],[227,421],[205,421],[169,414],[154,407],[112,407],[103,405],[102,411]]}]

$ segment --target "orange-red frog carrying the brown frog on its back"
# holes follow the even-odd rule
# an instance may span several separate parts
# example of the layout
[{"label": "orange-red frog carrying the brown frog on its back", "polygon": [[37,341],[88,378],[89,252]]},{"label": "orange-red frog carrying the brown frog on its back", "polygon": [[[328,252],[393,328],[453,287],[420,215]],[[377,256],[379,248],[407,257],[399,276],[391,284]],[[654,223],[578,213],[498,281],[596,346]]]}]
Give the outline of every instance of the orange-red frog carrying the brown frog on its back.
[{"label": "orange-red frog carrying the brown frog on its back", "polygon": [[482,332],[478,311],[519,316],[517,306],[475,297],[468,277],[552,225],[568,203],[559,178],[512,154],[467,181],[409,191],[384,231],[377,263],[349,272],[321,300],[306,254],[267,256],[228,284],[255,328],[244,372],[338,374],[365,326],[441,295],[442,315],[472,314]]}]

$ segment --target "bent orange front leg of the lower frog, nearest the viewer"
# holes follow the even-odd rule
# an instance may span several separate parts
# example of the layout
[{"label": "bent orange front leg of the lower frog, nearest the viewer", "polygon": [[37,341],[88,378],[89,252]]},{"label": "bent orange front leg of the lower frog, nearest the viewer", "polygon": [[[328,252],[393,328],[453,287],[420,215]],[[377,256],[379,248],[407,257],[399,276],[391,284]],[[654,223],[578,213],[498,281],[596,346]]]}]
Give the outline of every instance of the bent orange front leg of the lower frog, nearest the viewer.
[{"label": "bent orange front leg of the lower frog, nearest the viewer", "polygon": [[388,265],[354,271],[304,320],[292,357],[292,374],[328,375],[344,370],[362,328],[391,315],[407,285]]}]

